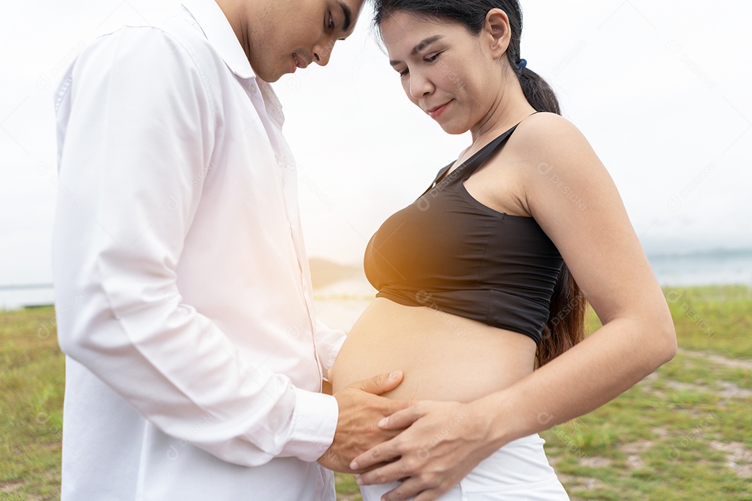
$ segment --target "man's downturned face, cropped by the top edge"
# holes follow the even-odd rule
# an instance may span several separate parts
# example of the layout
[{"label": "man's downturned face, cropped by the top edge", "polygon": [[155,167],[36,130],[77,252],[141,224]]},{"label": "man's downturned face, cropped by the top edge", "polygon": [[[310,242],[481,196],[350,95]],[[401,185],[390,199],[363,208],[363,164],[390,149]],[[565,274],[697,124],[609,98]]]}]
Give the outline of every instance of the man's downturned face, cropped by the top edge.
[{"label": "man's downturned face, cropped by the top edge", "polygon": [[362,0],[271,0],[248,20],[250,65],[274,82],[311,63],[326,65],[336,41],[353,32]]}]

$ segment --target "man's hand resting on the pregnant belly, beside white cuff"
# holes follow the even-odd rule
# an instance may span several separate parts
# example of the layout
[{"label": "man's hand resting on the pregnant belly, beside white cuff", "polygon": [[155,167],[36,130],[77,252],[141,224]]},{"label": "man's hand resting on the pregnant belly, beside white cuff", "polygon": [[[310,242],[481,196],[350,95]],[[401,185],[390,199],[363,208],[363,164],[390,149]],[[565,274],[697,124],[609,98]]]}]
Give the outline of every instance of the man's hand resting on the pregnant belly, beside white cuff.
[{"label": "man's hand resting on the pregnant belly, beside white cuff", "polygon": [[338,391],[334,397],[339,406],[334,441],[318,462],[338,472],[356,473],[348,466],[358,454],[381,442],[392,439],[400,430],[385,430],[378,422],[413,403],[379,397],[402,382],[402,371],[381,374],[356,382]]}]

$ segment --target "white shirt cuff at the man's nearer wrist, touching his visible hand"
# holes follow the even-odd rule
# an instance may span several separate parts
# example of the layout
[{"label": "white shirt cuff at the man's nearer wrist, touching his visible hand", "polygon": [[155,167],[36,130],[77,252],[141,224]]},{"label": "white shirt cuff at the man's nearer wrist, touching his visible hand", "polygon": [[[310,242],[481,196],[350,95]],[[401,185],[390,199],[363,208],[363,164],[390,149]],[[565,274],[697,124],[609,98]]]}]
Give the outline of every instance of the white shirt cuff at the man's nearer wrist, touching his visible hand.
[{"label": "white shirt cuff at the man's nearer wrist, touching his visible hand", "polygon": [[339,406],[332,395],[293,389],[296,402],[290,440],[280,456],[294,456],[312,463],[323,456],[334,441]]}]

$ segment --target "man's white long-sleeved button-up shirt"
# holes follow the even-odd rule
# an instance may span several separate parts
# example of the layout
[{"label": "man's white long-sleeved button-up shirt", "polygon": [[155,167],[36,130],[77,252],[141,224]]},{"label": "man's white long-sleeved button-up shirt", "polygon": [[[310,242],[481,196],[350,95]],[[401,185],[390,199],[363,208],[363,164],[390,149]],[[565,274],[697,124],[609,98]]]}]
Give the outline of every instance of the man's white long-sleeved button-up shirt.
[{"label": "man's white long-sleeved button-up shirt", "polygon": [[344,333],[314,318],[284,116],[213,0],[56,93],[62,499],[334,499]]}]

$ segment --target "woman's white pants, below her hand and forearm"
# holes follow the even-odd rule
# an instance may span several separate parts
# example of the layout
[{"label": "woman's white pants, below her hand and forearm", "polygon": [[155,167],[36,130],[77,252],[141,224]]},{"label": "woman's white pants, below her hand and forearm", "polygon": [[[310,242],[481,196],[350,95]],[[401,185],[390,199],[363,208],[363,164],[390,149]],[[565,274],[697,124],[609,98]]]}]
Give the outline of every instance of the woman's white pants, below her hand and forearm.
[{"label": "woman's white pants, below her hand and forearm", "polygon": [[[569,501],[536,433],[509,442],[481,461],[459,485],[438,501]],[[363,501],[379,501],[399,485],[360,487]]]}]

